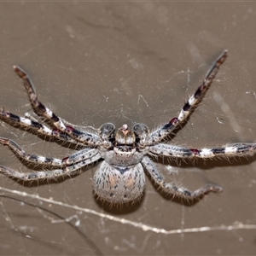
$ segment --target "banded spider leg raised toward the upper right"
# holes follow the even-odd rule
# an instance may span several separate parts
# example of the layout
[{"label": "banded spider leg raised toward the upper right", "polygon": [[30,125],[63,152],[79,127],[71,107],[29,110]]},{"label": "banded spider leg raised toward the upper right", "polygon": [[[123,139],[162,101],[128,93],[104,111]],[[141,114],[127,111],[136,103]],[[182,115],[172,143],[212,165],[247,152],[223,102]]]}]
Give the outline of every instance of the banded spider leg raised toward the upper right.
[{"label": "banded spider leg raised toward the upper right", "polygon": [[148,136],[148,145],[160,142],[163,138],[168,136],[177,125],[184,123],[188,119],[189,115],[194,112],[195,108],[201,102],[203,97],[206,95],[207,90],[210,88],[213,79],[218,73],[219,67],[224,63],[227,58],[227,50],[225,49],[218,59],[213,62],[212,67],[208,70],[206,78],[202,84],[195,90],[193,96],[190,96],[189,100],[184,104],[177,118],[171,119],[166,125],[163,125],[159,129],[152,131]]}]

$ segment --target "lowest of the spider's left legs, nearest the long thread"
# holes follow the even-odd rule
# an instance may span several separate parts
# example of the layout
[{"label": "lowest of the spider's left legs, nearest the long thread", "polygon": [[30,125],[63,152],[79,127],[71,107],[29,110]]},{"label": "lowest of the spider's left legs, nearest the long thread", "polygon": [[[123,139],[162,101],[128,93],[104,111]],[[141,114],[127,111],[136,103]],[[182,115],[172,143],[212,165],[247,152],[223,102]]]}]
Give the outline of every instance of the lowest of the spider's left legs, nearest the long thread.
[{"label": "lowest of the spider's left legs, nearest the long thread", "polygon": [[88,159],[84,159],[78,163],[73,164],[72,166],[64,166],[61,169],[56,169],[52,171],[40,171],[40,172],[29,172],[29,173],[22,173],[22,172],[15,171],[14,169],[11,169],[6,166],[0,166],[0,173],[3,173],[7,177],[13,177],[25,182],[38,181],[41,179],[55,180],[58,177],[71,176],[71,175],[77,174],[80,168],[84,166],[88,166],[91,163],[95,162],[96,160],[99,160],[100,158],[101,158],[101,155],[97,153],[92,155]]}]

